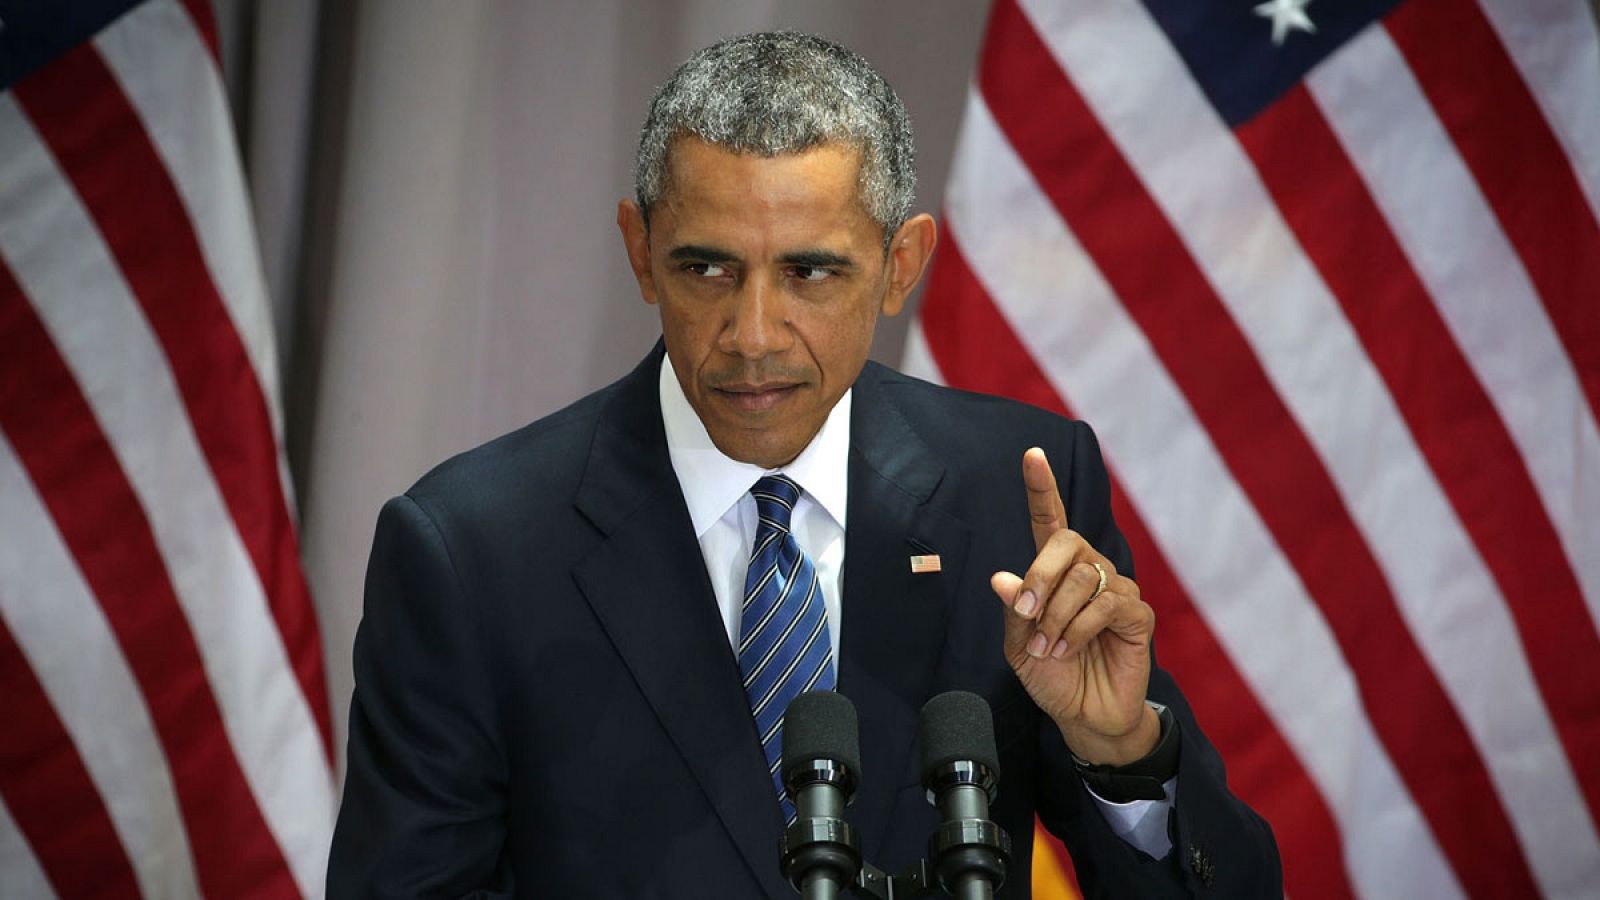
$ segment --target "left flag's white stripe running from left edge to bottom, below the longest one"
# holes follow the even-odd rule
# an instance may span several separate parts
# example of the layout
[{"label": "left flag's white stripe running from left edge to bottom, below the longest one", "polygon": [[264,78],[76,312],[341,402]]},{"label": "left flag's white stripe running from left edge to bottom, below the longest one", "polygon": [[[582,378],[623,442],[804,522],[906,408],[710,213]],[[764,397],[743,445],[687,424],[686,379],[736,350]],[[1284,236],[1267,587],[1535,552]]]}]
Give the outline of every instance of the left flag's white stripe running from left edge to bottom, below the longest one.
[{"label": "left flag's white stripe running from left edge to bottom, below the longest one", "polygon": [[[146,897],[198,897],[173,777],[133,671],[27,472],[0,436],[0,617],[16,636]],[[5,871],[0,865],[0,873]],[[0,890],[0,897],[29,897]]]}]

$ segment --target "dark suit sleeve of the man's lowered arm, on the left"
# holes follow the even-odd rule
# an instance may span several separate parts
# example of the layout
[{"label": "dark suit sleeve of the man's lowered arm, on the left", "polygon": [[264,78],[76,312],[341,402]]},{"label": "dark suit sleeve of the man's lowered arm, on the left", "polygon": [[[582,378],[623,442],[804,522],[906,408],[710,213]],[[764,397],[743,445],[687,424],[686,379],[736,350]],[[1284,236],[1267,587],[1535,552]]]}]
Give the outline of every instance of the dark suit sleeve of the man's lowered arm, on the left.
[{"label": "dark suit sleeve of the man's lowered arm, on the left", "polygon": [[478,610],[408,496],[378,519],[328,897],[490,897],[506,754]]}]

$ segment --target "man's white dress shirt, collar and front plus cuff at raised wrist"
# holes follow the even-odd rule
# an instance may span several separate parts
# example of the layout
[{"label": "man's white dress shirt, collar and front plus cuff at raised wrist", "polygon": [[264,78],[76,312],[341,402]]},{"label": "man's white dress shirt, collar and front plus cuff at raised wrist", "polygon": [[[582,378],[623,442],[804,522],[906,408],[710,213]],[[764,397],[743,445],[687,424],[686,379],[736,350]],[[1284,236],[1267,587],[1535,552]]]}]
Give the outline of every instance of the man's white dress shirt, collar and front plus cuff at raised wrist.
[{"label": "man's white dress shirt, collar and front plus cuff at raised wrist", "polygon": [[[678,476],[683,501],[690,508],[690,522],[706,557],[710,589],[717,594],[722,625],[728,642],[739,645],[739,610],[744,604],[744,573],[750,564],[750,544],[755,543],[755,498],[750,487],[762,476],[782,472],[800,485],[789,530],[800,549],[816,567],[818,585],[822,588],[822,604],[827,607],[827,633],[834,642],[834,674],[838,674],[838,634],[843,626],[845,594],[845,500],[850,479],[850,397],[851,391],[827,413],[827,421],[811,444],[781,469],[763,469],[750,463],[731,460],[717,450],[683,396],[683,386],[672,370],[672,360],[662,354],[661,364],[661,421],[667,429],[667,455],[672,471]],[[1099,804],[1107,825],[1118,838],[1162,858],[1171,850],[1166,834],[1166,814],[1178,791],[1178,778],[1166,785],[1165,801],[1110,802],[1094,791],[1090,796]],[[1026,839],[1026,838],[1016,838]]]}]

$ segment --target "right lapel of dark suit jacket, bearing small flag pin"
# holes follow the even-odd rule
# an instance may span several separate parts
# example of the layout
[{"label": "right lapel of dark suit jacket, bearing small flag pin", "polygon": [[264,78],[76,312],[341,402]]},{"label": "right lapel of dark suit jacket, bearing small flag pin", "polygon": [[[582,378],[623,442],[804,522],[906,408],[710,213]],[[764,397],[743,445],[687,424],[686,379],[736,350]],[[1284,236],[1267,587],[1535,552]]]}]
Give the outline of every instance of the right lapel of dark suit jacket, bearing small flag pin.
[{"label": "right lapel of dark suit jacket, bearing small flag pin", "polygon": [[[861,717],[862,783],[853,818],[870,854],[886,839],[894,801],[915,783],[912,759],[922,705],[938,684],[968,530],[928,504],[944,466],[885,394],[874,365],[856,381],[840,690]],[[912,556],[938,554],[938,573],[914,573]]]}]

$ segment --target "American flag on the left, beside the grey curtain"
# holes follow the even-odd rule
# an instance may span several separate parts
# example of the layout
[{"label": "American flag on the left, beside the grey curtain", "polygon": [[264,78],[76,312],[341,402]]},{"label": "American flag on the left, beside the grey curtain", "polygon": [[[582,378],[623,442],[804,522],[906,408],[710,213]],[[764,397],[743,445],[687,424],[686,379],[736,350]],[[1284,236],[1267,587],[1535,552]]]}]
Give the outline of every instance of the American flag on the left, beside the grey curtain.
[{"label": "American flag on the left, beside the grey curtain", "polygon": [[205,0],[0,3],[0,895],[314,897],[328,695]]}]

